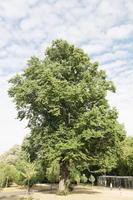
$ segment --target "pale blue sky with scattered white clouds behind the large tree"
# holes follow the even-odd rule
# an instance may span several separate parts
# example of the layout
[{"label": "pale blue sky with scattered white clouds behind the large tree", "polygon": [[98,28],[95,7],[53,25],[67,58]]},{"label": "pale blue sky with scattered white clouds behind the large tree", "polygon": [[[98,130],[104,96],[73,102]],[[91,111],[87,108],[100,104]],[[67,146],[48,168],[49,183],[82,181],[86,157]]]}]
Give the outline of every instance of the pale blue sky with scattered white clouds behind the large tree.
[{"label": "pale blue sky with scattered white clouds behind the large tree", "polygon": [[29,132],[7,91],[27,60],[43,58],[55,39],[65,39],[98,61],[116,93],[108,94],[128,136],[133,136],[133,0],[0,0],[0,153]]}]

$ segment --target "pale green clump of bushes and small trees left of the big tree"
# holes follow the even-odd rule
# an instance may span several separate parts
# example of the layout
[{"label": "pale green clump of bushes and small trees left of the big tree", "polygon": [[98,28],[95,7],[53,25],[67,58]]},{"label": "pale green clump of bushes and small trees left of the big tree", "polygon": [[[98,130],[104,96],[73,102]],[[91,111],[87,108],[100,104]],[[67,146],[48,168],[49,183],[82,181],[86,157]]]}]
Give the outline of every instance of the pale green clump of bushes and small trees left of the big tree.
[{"label": "pale green clump of bushes and small trees left of the big tree", "polygon": [[12,183],[29,185],[42,180],[45,171],[39,163],[30,163],[29,156],[15,145],[0,156],[0,187],[10,186]]}]

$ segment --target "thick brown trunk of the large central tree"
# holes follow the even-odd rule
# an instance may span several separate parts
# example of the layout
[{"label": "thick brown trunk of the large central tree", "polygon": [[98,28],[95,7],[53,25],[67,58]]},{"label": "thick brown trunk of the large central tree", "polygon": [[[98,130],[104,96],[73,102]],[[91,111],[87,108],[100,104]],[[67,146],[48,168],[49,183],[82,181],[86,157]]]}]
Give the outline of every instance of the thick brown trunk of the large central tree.
[{"label": "thick brown trunk of the large central tree", "polygon": [[66,181],[68,177],[68,165],[63,162],[60,164],[60,181],[59,181],[59,191],[63,191],[66,189]]}]

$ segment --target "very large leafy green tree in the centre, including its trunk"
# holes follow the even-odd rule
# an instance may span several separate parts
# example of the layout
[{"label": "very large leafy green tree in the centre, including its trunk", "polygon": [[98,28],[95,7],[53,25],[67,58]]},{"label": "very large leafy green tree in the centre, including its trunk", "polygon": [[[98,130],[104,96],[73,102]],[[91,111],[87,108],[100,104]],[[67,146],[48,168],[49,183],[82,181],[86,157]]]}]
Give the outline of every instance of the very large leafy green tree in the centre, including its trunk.
[{"label": "very large leafy green tree in the centre, including its trunk", "polygon": [[53,41],[44,59],[32,57],[10,83],[18,118],[27,119],[31,130],[29,152],[33,159],[59,163],[59,190],[72,163],[100,169],[119,153],[125,132],[106,99],[114,85],[82,49]]}]

